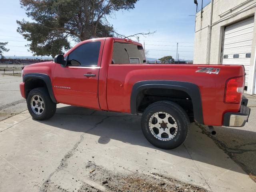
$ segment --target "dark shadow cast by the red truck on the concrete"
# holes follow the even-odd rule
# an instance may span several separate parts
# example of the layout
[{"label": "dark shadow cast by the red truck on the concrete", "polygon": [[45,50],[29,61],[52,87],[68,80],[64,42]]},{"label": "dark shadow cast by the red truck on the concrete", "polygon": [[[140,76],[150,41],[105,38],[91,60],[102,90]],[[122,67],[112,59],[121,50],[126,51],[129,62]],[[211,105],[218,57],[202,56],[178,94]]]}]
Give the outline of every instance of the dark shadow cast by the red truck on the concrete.
[{"label": "dark shadow cast by the red truck on the concrete", "polygon": [[[74,132],[86,132],[87,134],[96,135],[99,137],[96,142],[102,144],[102,147],[107,145],[110,140],[118,140],[126,144],[144,147],[140,150],[153,148],[164,153],[244,174],[244,171],[239,166],[230,163],[229,156],[225,154],[222,149],[218,148],[212,139],[202,133],[202,130],[196,126],[196,124],[191,124],[190,135],[182,146],[173,150],[163,150],[156,148],[146,140],[140,128],[140,119],[141,117],[136,115],[64,106],[57,108],[53,118],[47,121],[41,121],[40,123]],[[231,130],[231,128],[223,128],[223,131],[232,131],[234,136],[239,134],[240,137],[250,135],[251,138],[256,138],[256,132],[237,129]],[[235,140],[235,138],[233,139]],[[246,139],[244,141],[246,141]],[[240,143],[240,145],[242,146],[243,144]],[[226,150],[224,151],[226,152]],[[248,162],[255,162],[256,159],[255,156],[248,156],[246,153],[241,153],[240,158],[247,158],[246,161]],[[244,168],[244,166],[242,166],[242,168]],[[253,171],[255,171],[255,169],[254,167]]]}]

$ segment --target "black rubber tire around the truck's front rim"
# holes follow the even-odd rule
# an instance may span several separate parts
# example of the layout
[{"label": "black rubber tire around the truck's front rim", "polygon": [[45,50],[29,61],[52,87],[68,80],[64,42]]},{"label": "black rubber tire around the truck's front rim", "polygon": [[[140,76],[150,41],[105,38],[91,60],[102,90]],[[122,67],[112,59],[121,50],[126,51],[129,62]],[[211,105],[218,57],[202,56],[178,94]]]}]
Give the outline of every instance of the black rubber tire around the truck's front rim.
[{"label": "black rubber tire around the truck's front rim", "polygon": [[[33,108],[32,108],[32,105],[34,105],[32,103],[32,98],[37,95],[40,96],[42,99],[42,101],[40,101],[40,100],[38,100],[38,101],[44,103],[44,105],[42,105],[42,108],[44,110],[41,112],[41,114],[36,114],[36,111],[33,110]],[[52,102],[50,95],[48,93],[48,90],[46,88],[42,88],[42,87],[34,88],[29,92],[28,97],[27,97],[27,106],[28,106],[28,111],[29,111],[30,115],[36,120],[49,119],[52,116],[54,116],[54,114],[56,112],[56,103]]]}]

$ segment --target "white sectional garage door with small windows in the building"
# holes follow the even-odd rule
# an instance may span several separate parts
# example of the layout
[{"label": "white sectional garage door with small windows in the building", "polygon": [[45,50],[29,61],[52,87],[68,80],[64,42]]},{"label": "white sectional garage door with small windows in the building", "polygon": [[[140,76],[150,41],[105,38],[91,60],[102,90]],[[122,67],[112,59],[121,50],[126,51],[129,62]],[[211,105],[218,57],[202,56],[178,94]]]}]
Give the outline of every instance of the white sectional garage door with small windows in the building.
[{"label": "white sectional garage door with small windows in the building", "polygon": [[254,16],[225,27],[222,64],[244,65],[248,84]]}]

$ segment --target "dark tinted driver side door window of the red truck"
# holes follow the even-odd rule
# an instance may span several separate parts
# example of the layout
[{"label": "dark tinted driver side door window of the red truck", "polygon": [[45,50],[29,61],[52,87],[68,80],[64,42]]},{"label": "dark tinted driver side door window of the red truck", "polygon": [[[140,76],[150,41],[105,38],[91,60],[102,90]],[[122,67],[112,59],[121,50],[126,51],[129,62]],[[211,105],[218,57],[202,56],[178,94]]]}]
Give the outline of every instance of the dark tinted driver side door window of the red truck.
[{"label": "dark tinted driver side door window of the red truck", "polygon": [[99,41],[82,44],[68,55],[68,65],[97,66],[99,53]]}]

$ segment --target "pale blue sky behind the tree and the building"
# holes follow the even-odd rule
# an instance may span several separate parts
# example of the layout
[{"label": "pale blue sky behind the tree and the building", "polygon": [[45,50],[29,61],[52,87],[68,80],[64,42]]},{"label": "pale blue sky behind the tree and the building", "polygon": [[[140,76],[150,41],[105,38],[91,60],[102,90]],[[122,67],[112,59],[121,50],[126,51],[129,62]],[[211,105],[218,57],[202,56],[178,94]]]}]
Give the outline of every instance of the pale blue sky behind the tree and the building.
[{"label": "pale blue sky behind the tree and the building", "polygon": [[[206,5],[210,0],[204,0]],[[201,0],[198,0],[201,7]],[[25,10],[20,8],[19,0],[1,1],[0,12],[0,42],[8,41],[4,52],[6,56],[32,56],[25,47],[24,38],[16,32],[16,20],[30,20]],[[148,57],[160,58],[171,55],[176,57],[176,42],[179,42],[181,59],[193,58],[194,23],[196,5],[194,0],[139,0],[135,9],[118,11],[110,19],[115,30],[126,36],[141,33],[156,33],[150,36],[140,36],[140,43],[148,50]],[[136,40],[134,38],[134,40]]]}]

